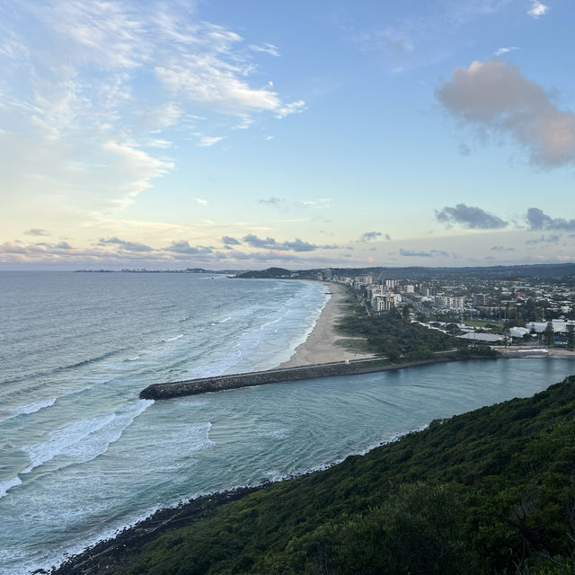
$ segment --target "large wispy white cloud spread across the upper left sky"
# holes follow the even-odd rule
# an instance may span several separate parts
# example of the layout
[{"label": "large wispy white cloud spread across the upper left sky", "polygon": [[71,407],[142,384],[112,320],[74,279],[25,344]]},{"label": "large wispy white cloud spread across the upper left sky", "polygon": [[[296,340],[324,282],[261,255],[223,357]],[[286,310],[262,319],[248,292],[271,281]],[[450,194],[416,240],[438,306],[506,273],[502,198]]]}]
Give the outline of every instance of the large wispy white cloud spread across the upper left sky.
[{"label": "large wispy white cloud spread across the upper left sky", "polygon": [[[0,199],[0,210],[26,207],[48,228],[63,212],[111,217],[173,170],[165,154],[178,137],[214,146],[256,114],[305,109],[261,80],[257,58],[277,47],[251,49],[194,11],[188,2],[55,0],[3,12],[0,147],[4,182],[19,196],[10,206]],[[42,199],[38,208],[31,198]]]}]

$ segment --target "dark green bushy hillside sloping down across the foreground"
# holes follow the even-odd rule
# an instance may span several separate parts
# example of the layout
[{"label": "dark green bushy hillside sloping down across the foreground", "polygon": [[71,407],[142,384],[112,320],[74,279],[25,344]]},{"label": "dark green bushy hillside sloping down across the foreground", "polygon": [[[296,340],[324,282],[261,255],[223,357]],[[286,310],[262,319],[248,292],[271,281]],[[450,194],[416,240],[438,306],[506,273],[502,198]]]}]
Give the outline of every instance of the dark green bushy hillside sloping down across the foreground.
[{"label": "dark green bushy hillside sloping down across the foreground", "polygon": [[322,473],[205,507],[117,572],[572,573],[574,415],[571,376],[434,421]]}]

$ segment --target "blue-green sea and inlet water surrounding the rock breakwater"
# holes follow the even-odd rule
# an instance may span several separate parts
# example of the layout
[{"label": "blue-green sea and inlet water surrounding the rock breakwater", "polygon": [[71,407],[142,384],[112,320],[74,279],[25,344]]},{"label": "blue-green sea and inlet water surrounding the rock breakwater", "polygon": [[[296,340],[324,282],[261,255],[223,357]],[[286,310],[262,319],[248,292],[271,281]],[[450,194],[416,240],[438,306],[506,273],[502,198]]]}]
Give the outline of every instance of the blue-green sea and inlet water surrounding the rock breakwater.
[{"label": "blue-green sea and inlet water surrounding the rock breakwater", "polygon": [[322,284],[0,273],[0,572],[26,573],[200,493],[331,464],[429,420],[534,394],[570,360],[475,361],[139,400],[150,383],[265,369]]}]

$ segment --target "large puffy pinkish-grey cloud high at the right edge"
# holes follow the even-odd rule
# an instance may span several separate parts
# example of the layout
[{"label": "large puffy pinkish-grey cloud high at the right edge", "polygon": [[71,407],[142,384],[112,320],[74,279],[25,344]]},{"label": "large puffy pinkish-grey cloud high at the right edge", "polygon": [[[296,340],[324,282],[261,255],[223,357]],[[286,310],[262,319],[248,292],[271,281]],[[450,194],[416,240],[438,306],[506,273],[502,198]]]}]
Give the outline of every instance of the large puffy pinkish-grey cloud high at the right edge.
[{"label": "large puffy pinkish-grey cloud high at the right edge", "polygon": [[575,113],[559,109],[518,66],[491,61],[457,67],[437,97],[462,123],[514,139],[533,164],[575,164]]}]

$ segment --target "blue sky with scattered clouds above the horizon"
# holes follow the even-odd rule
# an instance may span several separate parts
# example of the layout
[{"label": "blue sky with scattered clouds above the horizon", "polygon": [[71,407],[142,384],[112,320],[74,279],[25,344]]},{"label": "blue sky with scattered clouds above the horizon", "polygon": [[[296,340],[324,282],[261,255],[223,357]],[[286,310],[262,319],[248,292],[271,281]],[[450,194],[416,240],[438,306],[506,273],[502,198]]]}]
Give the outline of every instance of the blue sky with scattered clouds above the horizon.
[{"label": "blue sky with scattered clouds above the horizon", "polygon": [[575,261],[572,0],[0,0],[0,270]]}]

